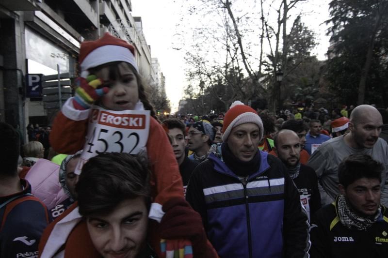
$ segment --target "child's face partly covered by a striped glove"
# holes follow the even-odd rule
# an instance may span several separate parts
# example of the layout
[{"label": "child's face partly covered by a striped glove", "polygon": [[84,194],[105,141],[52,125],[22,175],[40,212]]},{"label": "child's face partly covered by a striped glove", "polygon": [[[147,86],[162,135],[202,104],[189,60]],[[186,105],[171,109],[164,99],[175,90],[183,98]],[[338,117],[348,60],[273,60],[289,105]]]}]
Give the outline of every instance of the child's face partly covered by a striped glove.
[{"label": "child's face partly covered by a striped glove", "polygon": [[95,75],[104,80],[102,87],[109,87],[108,93],[101,98],[105,108],[115,111],[135,108],[139,101],[139,89],[136,76],[127,63],[118,64],[115,80],[110,79],[108,67],[97,71]]}]

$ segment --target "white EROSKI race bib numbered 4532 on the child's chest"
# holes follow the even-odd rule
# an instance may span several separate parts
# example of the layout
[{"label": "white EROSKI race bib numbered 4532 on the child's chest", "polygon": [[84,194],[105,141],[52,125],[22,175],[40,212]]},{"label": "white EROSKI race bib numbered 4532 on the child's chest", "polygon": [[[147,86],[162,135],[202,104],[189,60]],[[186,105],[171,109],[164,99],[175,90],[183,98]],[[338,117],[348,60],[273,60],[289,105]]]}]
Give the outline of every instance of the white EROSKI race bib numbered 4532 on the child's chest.
[{"label": "white EROSKI race bib numbered 4532 on the child's chest", "polygon": [[94,106],[88,123],[86,143],[74,171],[81,174],[82,166],[103,152],[137,154],[146,150],[150,123],[149,110],[107,110]]}]

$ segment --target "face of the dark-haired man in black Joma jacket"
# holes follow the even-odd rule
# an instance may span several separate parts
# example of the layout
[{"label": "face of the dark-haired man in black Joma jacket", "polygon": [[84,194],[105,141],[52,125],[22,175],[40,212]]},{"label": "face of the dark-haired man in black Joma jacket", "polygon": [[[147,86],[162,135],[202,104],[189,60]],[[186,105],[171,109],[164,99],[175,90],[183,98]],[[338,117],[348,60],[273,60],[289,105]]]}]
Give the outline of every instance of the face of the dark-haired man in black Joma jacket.
[{"label": "face of the dark-haired man in black Joma jacket", "polygon": [[346,189],[339,185],[339,190],[359,215],[374,215],[380,205],[380,181],[376,178],[360,178]]}]

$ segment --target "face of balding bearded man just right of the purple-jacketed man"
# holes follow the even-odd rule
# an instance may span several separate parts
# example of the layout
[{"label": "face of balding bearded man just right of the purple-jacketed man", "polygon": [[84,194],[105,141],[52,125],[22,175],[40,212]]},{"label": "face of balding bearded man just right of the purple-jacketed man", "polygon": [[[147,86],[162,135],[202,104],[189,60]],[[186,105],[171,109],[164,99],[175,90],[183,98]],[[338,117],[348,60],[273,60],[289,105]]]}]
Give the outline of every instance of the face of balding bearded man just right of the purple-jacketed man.
[{"label": "face of balding bearded man just right of the purple-jacketed man", "polygon": [[300,158],[299,137],[292,131],[280,132],[276,140],[276,152],[287,167],[295,167]]}]

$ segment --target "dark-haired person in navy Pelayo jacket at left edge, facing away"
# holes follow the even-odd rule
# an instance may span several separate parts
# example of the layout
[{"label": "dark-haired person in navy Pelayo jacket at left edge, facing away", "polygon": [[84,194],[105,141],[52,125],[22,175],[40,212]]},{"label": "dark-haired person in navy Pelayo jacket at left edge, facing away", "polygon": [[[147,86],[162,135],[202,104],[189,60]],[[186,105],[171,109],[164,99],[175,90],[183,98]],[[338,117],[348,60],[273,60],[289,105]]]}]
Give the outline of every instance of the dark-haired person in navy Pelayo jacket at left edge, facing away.
[{"label": "dark-haired person in navy Pelayo jacket at left edge, facing away", "polygon": [[38,257],[38,244],[49,224],[46,206],[31,194],[31,185],[19,179],[19,134],[0,122],[0,257]]}]

